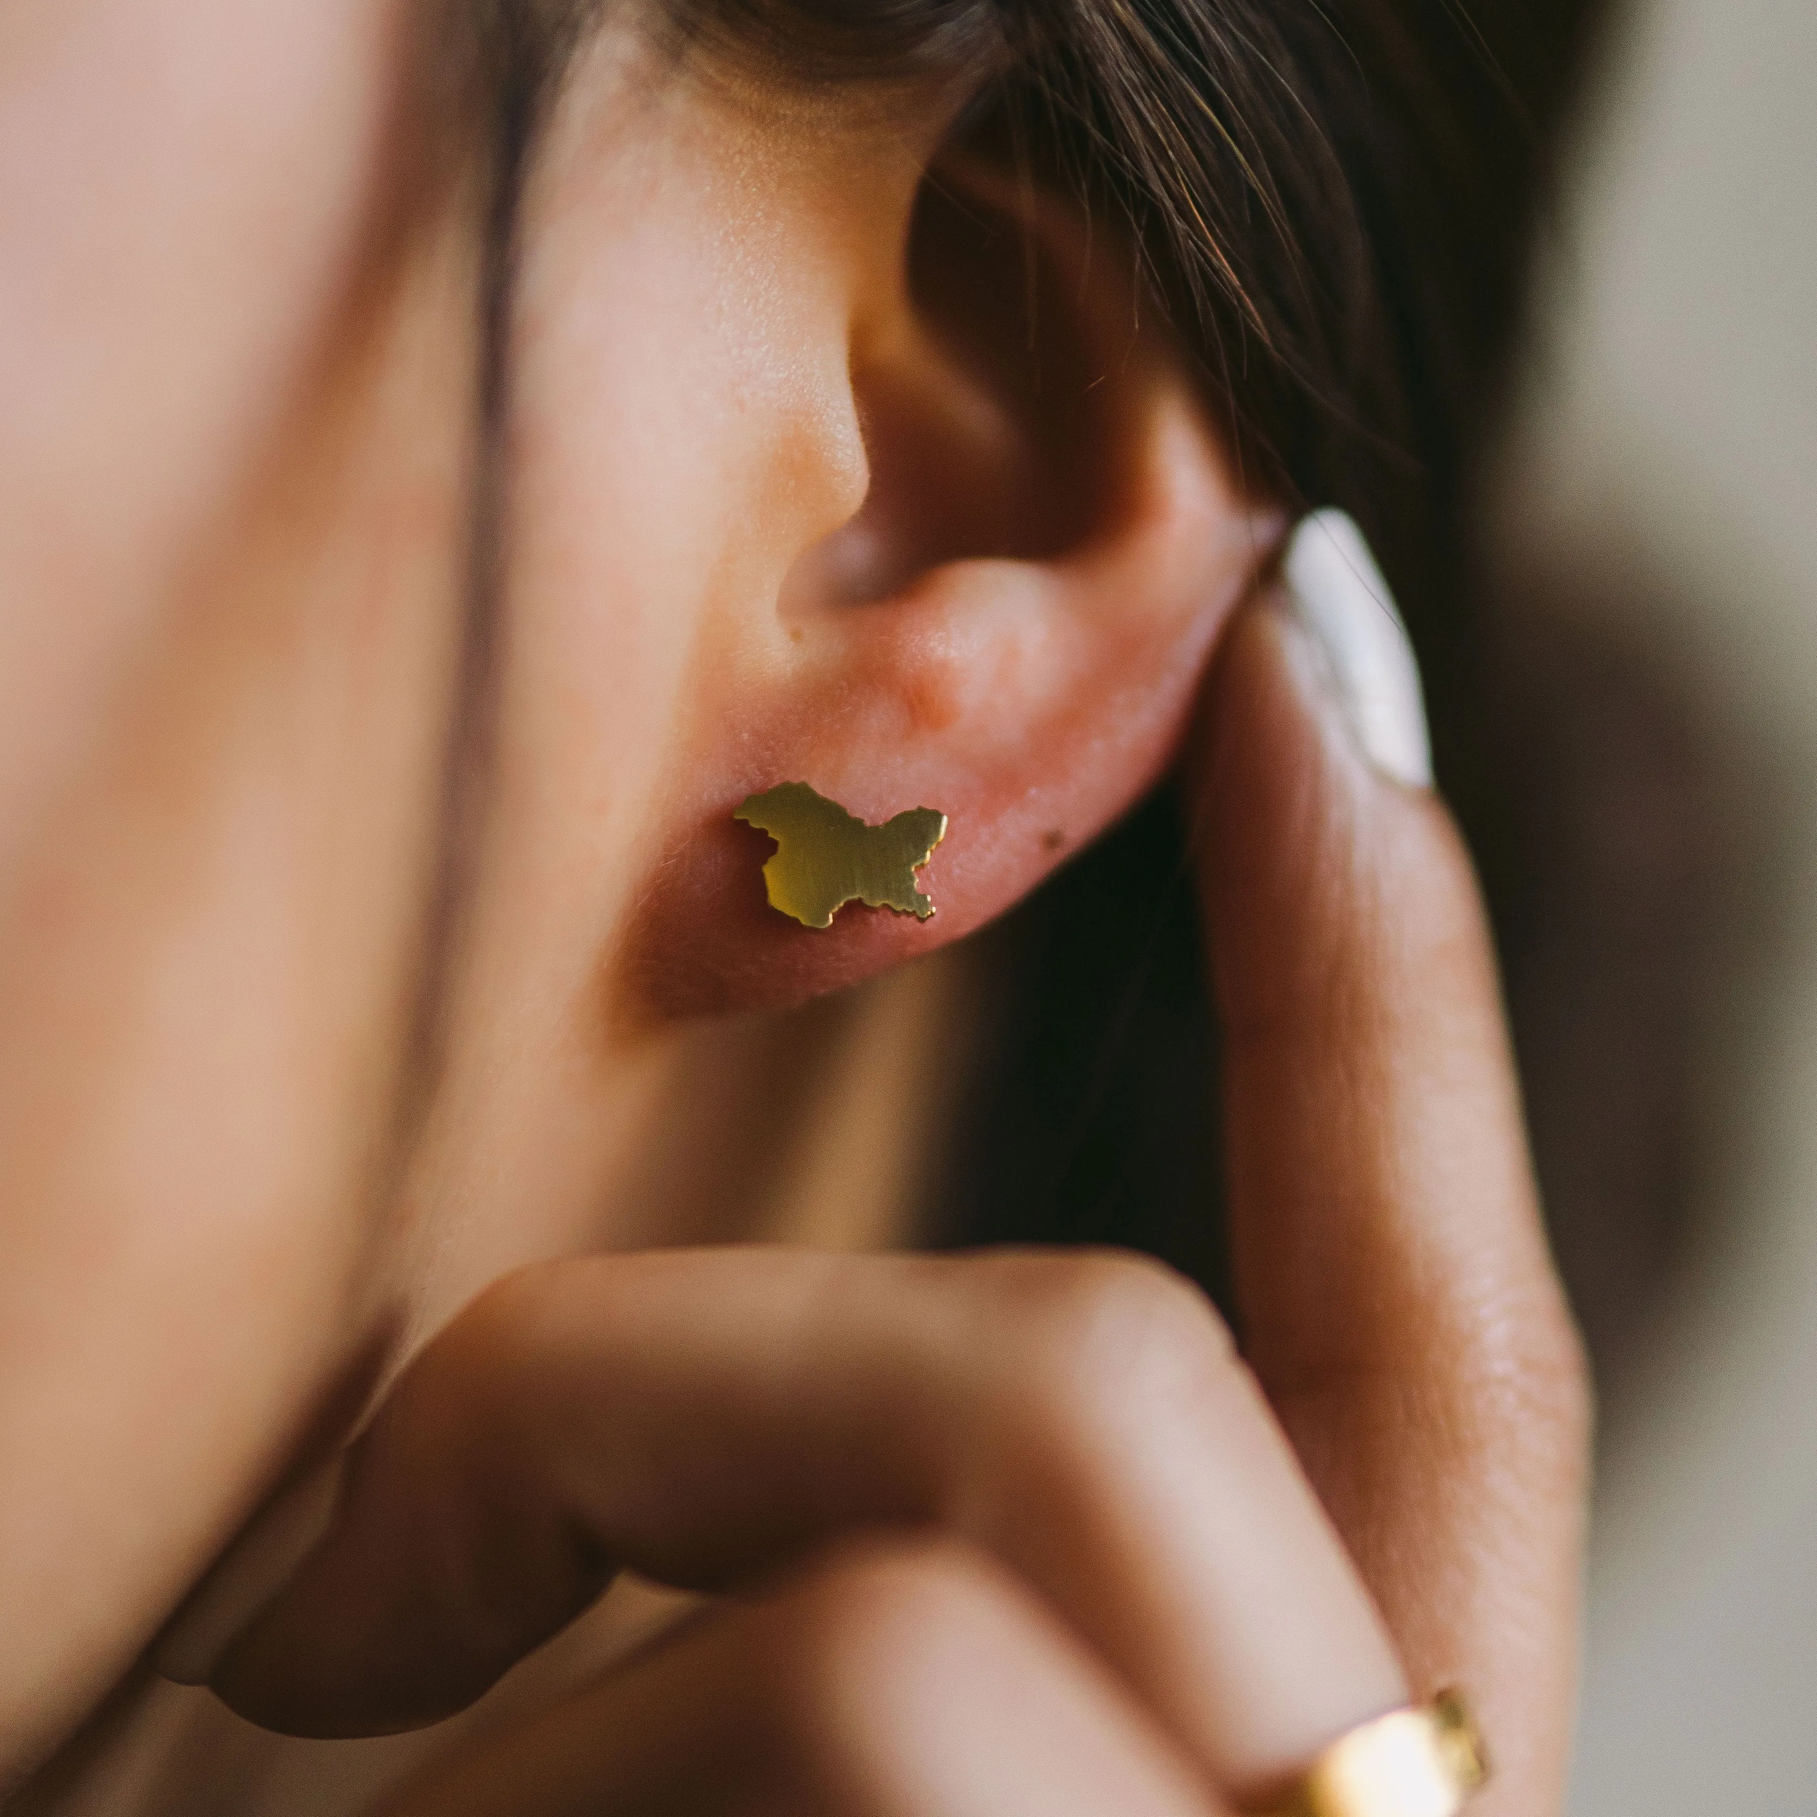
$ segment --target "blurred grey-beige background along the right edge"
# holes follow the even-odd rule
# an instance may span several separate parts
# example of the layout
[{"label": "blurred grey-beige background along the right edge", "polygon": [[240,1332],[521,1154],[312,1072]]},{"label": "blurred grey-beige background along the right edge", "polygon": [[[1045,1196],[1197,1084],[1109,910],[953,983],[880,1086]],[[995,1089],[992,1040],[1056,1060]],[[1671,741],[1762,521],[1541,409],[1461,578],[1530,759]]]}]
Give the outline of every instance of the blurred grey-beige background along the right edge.
[{"label": "blurred grey-beige background along the right edge", "polygon": [[1817,1812],[1813,94],[1810,0],[1612,22],[1484,489],[1599,883],[1512,981],[1604,1397],[1575,1817]]}]

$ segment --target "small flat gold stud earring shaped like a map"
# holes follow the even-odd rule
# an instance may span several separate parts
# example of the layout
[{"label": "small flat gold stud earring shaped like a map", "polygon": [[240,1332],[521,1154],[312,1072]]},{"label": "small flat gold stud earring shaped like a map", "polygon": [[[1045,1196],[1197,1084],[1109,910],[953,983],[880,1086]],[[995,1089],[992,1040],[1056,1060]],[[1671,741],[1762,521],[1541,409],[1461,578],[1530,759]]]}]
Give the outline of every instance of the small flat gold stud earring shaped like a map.
[{"label": "small flat gold stud earring shaped like a map", "polygon": [[923,921],[934,914],[916,883],[916,872],[947,838],[947,816],[930,807],[912,807],[872,827],[807,783],[779,783],[754,794],[732,819],[776,841],[776,856],[763,867],[770,907],[803,927],[832,927],[850,901]]}]

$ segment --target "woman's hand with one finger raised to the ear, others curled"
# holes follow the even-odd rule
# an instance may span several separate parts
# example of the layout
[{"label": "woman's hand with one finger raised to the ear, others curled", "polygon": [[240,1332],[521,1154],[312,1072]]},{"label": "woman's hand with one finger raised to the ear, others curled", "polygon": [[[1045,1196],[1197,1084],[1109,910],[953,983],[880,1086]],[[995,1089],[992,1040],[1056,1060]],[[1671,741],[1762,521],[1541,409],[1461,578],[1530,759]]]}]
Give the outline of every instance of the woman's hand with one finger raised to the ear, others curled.
[{"label": "woman's hand with one finger raised to the ear, others curled", "polygon": [[1332,700],[1257,605],[1194,752],[1248,1366],[1107,1256],[516,1276],[400,1383],[222,1693],[432,1721],[623,1564],[729,1595],[387,1817],[1185,1817],[1450,1681],[1484,1810],[1550,1810],[1577,1352],[1468,865]]}]

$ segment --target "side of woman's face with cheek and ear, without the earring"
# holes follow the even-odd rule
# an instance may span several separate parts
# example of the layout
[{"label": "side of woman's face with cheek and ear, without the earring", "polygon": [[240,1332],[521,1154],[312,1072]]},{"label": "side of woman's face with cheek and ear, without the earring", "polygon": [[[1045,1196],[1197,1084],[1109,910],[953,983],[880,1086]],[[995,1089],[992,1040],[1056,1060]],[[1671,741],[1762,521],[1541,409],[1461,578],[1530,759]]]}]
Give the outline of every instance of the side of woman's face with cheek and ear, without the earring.
[{"label": "side of woman's face with cheek and ear, without the earring", "polygon": [[[678,62],[625,0],[521,196],[449,861],[487,196],[440,11],[0,31],[0,1603],[47,1637],[0,1770],[412,1319],[611,1237],[621,1048],[956,939],[1127,809],[1272,536],[1127,249],[943,151],[963,89]],[[938,914],[770,910],[732,814],[783,781],[947,814]]]}]

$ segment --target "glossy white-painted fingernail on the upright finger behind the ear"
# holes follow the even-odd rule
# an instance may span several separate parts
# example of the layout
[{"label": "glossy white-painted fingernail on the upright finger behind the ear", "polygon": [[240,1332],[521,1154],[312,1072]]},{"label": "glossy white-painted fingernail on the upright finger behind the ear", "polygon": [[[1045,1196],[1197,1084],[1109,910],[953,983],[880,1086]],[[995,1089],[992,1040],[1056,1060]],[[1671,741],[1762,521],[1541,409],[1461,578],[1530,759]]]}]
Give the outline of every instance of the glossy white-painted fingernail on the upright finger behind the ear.
[{"label": "glossy white-painted fingernail on the upright finger behind the ear", "polygon": [[1283,565],[1299,618],[1319,640],[1363,754],[1410,789],[1432,787],[1419,663],[1368,543],[1341,511],[1294,531]]}]

